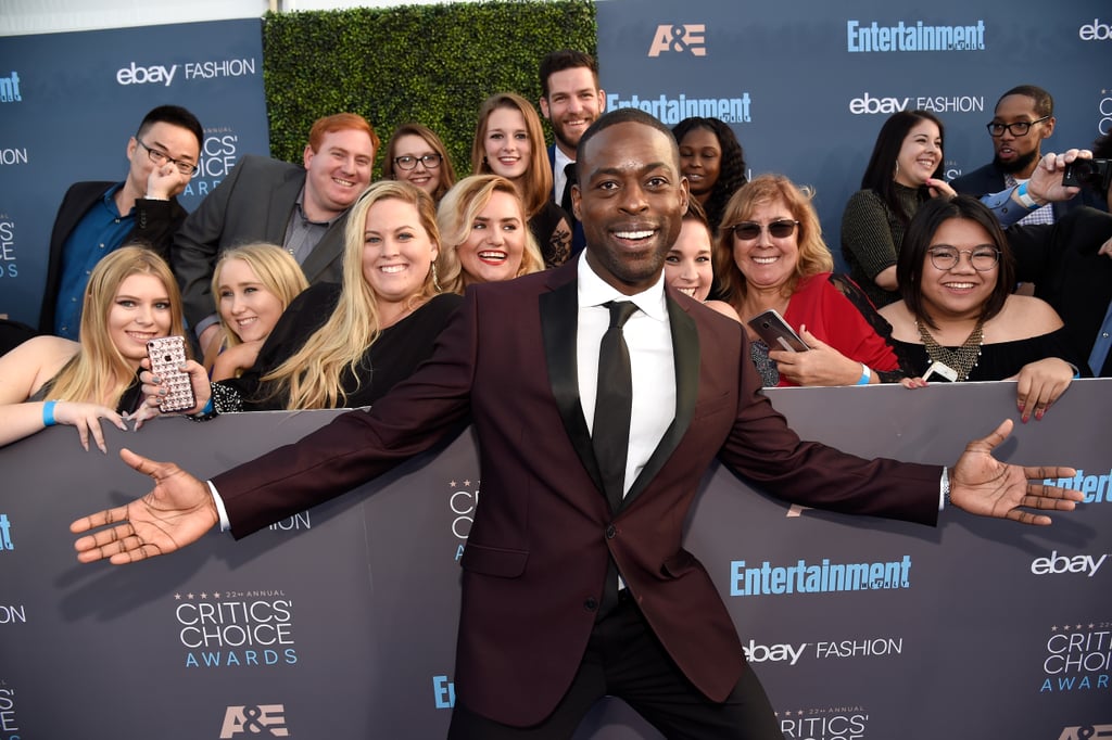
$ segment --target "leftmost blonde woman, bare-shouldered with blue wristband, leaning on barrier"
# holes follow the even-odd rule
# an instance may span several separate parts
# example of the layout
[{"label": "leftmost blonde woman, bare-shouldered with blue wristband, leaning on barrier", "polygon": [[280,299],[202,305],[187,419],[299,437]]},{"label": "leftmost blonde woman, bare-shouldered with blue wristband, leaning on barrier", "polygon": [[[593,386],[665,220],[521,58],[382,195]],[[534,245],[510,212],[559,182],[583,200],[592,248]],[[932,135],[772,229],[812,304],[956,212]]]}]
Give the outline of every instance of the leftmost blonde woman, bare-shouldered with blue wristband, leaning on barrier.
[{"label": "leftmost blonde woman, bare-shouldered with blue wristband, leaning on barrier", "polygon": [[93,268],[80,341],[34,337],[0,357],[0,444],[56,423],[77,427],[107,451],[101,419],[123,419],[141,401],[137,381],[147,341],[183,334],[181,296],[169,266],[143,247],[122,247]]}]

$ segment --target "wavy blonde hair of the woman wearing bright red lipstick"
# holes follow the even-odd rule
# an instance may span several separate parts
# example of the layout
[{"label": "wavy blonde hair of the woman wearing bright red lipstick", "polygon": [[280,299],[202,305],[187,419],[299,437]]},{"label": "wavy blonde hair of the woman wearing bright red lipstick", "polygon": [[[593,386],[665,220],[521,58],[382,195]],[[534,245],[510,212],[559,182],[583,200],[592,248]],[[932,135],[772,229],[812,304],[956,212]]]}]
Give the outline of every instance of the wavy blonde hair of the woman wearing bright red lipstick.
[{"label": "wavy blonde hair of the woman wearing bright red lipstick", "polygon": [[459,262],[459,247],[470,238],[471,224],[496,192],[513,196],[522,218],[522,230],[525,232],[522,267],[514,277],[544,269],[545,261],[540,257],[540,248],[537,247],[537,240],[529,229],[522,196],[514,183],[497,174],[473,174],[457,182],[440,200],[440,207],[436,211],[436,223],[440,229],[443,241],[440,256],[436,258],[436,272],[444,291],[463,294],[467,281],[463,264]]}]

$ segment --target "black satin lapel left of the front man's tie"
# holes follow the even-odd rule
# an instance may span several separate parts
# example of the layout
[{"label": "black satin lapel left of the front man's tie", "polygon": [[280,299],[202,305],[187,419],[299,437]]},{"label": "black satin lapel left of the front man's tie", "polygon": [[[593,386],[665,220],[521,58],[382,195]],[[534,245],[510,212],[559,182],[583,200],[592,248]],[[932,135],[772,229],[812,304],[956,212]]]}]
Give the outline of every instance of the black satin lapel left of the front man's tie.
[{"label": "black satin lapel left of the front man's tie", "polygon": [[602,476],[598,463],[595,462],[590,432],[579,400],[579,370],[576,364],[576,329],[579,318],[577,291],[578,283],[572,280],[552,292],[540,294],[540,331],[556,409],[564,420],[564,429],[572,447],[595,486],[602,490]]}]

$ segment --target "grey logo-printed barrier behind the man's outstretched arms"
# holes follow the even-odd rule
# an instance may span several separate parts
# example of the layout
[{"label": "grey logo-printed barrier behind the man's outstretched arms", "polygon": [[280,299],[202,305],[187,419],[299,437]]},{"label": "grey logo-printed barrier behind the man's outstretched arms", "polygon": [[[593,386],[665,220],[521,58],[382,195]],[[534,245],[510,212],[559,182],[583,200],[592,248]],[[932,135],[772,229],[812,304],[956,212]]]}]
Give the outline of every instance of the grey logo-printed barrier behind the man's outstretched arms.
[{"label": "grey logo-printed barrier behind the man's outstretched arms", "polygon": [[[772,390],[805,437],[952,463],[1014,417],[1013,383]],[[800,510],[708,472],[687,536],[785,738],[1084,740],[1112,733],[1112,380],[1078,381],[999,450],[1086,493],[1049,528],[946,510],[937,528]],[[199,476],[334,411],[56,427],[0,449],[0,740],[438,738],[455,698],[457,560],[481,471],[470,431],[236,542],[82,566],[71,520],[148,490],[128,446]],[[835,578],[845,573],[846,578]],[[805,574],[805,576],[804,576]],[[537,636],[544,640],[544,634]],[[617,700],[579,740],[659,736]]]}]

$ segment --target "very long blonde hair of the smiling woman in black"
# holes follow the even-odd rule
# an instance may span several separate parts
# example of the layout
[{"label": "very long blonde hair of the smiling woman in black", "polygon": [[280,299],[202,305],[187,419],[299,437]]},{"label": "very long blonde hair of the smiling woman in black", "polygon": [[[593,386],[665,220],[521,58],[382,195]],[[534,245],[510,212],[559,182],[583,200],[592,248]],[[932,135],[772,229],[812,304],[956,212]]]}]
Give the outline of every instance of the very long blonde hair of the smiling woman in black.
[{"label": "very long blonde hair of the smiling woman in black", "polygon": [[[439,248],[436,209],[428,193],[401,180],[379,180],[367,188],[348,212],[344,230],[344,286],[336,309],[301,349],[262,377],[264,382],[274,383],[272,397],[286,391],[287,409],[345,406],[347,393],[340,387],[345,368],[355,377],[358,387],[358,367],[363,356],[381,333],[378,294],[363,274],[367,211],[375,203],[391,199],[417,209],[421,227]],[[420,290],[409,297],[409,308],[416,308],[437,292],[433,271],[429,270]]]}]

